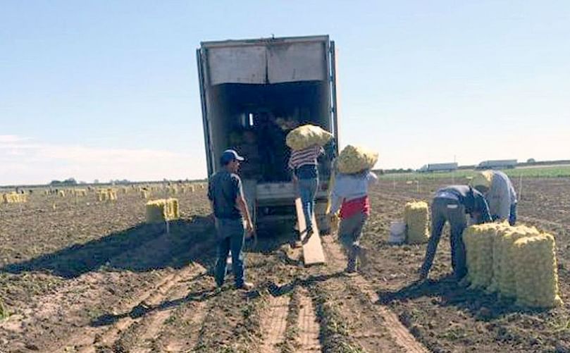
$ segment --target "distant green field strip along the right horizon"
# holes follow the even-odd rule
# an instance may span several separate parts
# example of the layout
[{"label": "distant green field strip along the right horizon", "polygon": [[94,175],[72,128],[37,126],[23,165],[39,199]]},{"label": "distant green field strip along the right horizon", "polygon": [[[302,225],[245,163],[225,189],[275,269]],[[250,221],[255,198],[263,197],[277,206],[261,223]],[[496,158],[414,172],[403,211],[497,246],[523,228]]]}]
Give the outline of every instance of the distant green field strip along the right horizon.
[{"label": "distant green field strip along the right horizon", "polygon": [[[570,177],[570,166],[543,166],[543,167],[521,167],[514,169],[504,169],[511,178],[568,178]],[[453,173],[393,173],[384,174],[380,178],[395,180],[426,180],[440,178],[468,178],[475,173],[473,170],[461,170]]]}]

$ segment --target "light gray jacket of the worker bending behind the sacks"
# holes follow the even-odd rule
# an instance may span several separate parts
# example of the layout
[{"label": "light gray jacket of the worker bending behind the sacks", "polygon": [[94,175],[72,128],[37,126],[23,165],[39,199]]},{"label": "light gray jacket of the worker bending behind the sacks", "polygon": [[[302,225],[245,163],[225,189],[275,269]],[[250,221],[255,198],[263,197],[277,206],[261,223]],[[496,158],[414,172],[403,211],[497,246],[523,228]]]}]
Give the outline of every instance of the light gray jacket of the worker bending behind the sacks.
[{"label": "light gray jacket of the worker bending behind the sacks", "polygon": [[485,199],[489,204],[491,216],[497,216],[501,221],[509,219],[511,205],[516,204],[516,192],[509,177],[502,171],[492,171],[492,182]]}]

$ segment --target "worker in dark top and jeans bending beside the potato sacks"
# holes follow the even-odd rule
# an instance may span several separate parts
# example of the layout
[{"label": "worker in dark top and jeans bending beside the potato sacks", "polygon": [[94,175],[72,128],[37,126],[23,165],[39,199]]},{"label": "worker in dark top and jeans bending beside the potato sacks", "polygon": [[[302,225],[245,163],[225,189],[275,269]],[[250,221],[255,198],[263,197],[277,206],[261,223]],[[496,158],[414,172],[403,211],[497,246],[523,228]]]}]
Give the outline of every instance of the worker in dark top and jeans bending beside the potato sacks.
[{"label": "worker in dark top and jeans bending beside the potato sacks", "polygon": [[473,187],[452,185],[435,192],[431,204],[431,237],[426,249],[426,259],[423,260],[420,268],[421,280],[428,277],[446,221],[450,223],[451,228],[453,274],[457,280],[461,280],[466,275],[465,245],[462,237],[463,230],[467,226],[466,214],[469,214],[476,224],[492,221],[485,197]]}]

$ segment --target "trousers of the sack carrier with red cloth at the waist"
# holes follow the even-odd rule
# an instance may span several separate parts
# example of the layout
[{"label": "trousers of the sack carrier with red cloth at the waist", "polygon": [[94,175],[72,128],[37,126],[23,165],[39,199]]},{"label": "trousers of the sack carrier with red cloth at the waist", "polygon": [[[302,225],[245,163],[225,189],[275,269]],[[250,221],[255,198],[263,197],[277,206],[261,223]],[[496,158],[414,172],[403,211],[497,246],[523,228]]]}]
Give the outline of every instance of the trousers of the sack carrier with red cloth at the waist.
[{"label": "trousers of the sack carrier with red cloth at the waist", "polygon": [[345,248],[348,257],[347,271],[353,272],[357,269],[357,256],[362,261],[362,249],[360,247],[360,236],[362,235],[362,228],[366,223],[365,213],[358,212],[349,218],[343,218],[340,220],[340,226],[338,228],[338,237]]}]

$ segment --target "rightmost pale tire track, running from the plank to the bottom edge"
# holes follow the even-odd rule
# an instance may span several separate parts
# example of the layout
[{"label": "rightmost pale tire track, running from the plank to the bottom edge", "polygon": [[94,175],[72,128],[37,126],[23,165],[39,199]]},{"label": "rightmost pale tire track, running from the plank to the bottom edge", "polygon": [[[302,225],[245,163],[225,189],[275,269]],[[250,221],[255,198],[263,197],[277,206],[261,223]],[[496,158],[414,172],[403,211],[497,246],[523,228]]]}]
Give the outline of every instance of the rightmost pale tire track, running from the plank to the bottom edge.
[{"label": "rightmost pale tire track, running from the plank to the bottom edge", "polygon": [[[340,249],[339,244],[335,242],[332,237],[323,237],[323,248],[327,253],[329,265],[336,270],[342,271],[344,264],[346,264],[346,256]],[[376,309],[377,314],[383,318],[385,329],[392,337],[394,342],[403,349],[403,352],[409,353],[427,353],[429,352],[426,347],[423,347],[416,338],[411,335],[409,330],[399,321],[399,318],[389,308],[376,304],[378,303],[378,295],[374,292],[371,283],[357,275],[347,279],[352,283],[360,292],[364,293],[370,300],[373,308]]]}]

